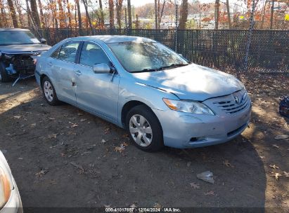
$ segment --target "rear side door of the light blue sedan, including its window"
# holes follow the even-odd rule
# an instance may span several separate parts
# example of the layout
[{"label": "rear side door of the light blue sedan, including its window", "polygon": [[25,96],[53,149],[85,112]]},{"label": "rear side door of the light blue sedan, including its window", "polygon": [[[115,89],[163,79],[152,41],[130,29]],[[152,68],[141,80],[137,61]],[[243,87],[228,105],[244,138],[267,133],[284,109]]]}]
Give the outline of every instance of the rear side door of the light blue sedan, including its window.
[{"label": "rear side door of the light blue sedan, including its window", "polygon": [[58,98],[71,104],[76,104],[75,60],[80,42],[64,43],[59,50],[51,55],[49,62]]}]

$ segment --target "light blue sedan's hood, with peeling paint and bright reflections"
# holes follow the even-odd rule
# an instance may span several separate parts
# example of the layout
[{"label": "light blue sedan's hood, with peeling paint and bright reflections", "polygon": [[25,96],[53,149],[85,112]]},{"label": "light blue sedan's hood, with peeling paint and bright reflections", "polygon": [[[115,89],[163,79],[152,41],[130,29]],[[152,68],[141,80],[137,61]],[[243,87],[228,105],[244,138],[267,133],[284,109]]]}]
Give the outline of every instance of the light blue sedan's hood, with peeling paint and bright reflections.
[{"label": "light blue sedan's hood, with peeling paint and bright reflections", "polygon": [[243,83],[230,74],[197,64],[132,75],[139,83],[174,93],[180,99],[196,101],[229,95],[244,87]]}]

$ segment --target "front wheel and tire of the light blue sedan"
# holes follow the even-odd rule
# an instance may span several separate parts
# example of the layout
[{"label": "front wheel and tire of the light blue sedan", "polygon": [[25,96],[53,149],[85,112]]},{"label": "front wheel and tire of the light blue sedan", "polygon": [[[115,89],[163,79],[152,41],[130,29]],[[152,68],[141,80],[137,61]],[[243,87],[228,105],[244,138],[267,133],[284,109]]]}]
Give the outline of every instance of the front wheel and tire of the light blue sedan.
[{"label": "front wheel and tire of the light blue sedan", "polygon": [[132,142],[139,149],[153,152],[164,147],[160,121],[145,105],[132,108],[127,113],[125,124]]}]

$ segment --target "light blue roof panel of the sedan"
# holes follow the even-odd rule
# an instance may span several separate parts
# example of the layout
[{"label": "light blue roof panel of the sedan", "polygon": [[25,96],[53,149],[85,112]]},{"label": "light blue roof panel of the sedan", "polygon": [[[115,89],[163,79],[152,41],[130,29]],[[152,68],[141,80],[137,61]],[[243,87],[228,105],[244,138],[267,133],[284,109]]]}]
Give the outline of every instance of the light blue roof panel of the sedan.
[{"label": "light blue roof panel of the sedan", "polygon": [[117,42],[155,42],[152,39],[138,37],[138,36],[110,36],[110,35],[101,35],[101,36],[82,36],[82,37],[75,37],[72,40],[77,39],[84,39],[84,40],[101,40],[104,43],[117,43]]}]

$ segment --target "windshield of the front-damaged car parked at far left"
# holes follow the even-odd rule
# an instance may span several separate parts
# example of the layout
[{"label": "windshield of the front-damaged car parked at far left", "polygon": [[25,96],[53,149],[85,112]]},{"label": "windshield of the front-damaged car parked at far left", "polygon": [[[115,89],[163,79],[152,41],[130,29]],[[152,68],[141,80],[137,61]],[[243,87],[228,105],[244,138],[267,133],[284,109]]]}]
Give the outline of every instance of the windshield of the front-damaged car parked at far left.
[{"label": "windshield of the front-damaged car parked at far left", "polygon": [[0,46],[40,43],[30,31],[0,31]]}]

